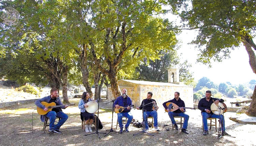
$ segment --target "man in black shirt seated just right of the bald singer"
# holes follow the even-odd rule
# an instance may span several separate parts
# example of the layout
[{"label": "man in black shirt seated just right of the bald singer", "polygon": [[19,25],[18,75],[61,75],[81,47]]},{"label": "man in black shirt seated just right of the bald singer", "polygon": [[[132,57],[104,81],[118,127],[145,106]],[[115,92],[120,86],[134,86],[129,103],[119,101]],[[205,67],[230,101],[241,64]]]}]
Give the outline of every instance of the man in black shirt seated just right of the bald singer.
[{"label": "man in black shirt seated just right of the bald singer", "polygon": [[[154,118],[154,127],[155,130],[159,131],[158,129],[158,123],[157,123],[157,110],[158,110],[158,106],[156,104],[155,99],[152,99],[152,92],[148,92],[147,93],[147,98],[143,99],[143,101],[141,102],[141,105],[139,107],[137,107],[137,109],[142,109],[143,105],[144,106],[144,112],[143,112],[143,118],[144,118],[144,124],[145,124],[145,132],[148,131],[148,123],[147,123],[147,118],[152,116]],[[154,108],[154,110],[153,110]]]}]

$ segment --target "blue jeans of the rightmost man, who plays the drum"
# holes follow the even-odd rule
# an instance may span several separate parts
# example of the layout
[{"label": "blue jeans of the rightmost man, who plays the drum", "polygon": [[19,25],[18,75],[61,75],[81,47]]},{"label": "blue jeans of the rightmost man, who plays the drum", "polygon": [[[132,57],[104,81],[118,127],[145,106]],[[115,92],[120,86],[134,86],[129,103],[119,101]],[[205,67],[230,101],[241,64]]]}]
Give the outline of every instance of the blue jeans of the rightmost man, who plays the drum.
[{"label": "blue jeans of the rightmost man, who plays the drum", "polygon": [[213,114],[213,113],[207,113],[207,112],[202,112],[201,113],[202,115],[202,118],[203,118],[203,129],[204,130],[208,130],[208,125],[207,125],[207,118],[208,117],[213,117],[213,118],[218,118],[221,120],[221,124],[223,124],[221,127],[222,127],[222,131],[225,131],[226,128],[225,128],[225,120],[224,120],[224,116],[223,115],[216,115],[216,114]]}]

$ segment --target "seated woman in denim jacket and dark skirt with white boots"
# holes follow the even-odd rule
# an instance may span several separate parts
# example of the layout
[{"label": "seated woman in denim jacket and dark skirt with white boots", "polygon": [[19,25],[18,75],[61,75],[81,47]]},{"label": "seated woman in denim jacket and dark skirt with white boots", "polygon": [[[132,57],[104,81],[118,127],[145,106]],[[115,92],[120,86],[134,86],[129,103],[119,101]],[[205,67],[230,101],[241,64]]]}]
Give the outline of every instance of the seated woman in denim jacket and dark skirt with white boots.
[{"label": "seated woman in denim jacket and dark skirt with white boots", "polygon": [[78,108],[81,111],[81,120],[85,120],[85,132],[93,132],[93,130],[91,130],[91,124],[93,124],[94,121],[94,113],[88,113],[86,111],[86,108],[88,108],[88,105],[86,105],[86,103],[92,100],[91,98],[89,98],[89,96],[90,95],[88,92],[84,92],[82,95],[82,99],[80,99],[78,104]]}]

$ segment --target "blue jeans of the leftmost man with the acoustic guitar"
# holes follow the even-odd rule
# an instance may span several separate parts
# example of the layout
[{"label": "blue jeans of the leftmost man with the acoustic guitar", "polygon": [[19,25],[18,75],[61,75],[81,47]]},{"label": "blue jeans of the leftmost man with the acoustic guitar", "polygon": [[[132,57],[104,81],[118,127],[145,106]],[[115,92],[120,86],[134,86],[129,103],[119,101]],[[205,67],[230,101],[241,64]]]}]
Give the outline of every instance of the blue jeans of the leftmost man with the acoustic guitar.
[{"label": "blue jeans of the leftmost man with the acoustic guitar", "polygon": [[[49,130],[58,130],[61,125],[63,125],[68,120],[68,115],[62,111],[56,113],[55,111],[49,111],[46,116],[50,119]],[[59,122],[54,125],[56,117],[59,117]]]}]

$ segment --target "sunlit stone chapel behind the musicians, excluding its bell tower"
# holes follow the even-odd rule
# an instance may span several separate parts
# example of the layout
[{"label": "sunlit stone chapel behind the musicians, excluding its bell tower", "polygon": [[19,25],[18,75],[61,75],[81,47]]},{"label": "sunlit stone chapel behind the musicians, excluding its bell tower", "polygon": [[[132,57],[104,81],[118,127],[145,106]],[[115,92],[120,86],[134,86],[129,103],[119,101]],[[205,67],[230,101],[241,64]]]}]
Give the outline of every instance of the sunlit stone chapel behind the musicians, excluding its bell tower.
[{"label": "sunlit stone chapel behind the musicians, excluding its bell tower", "polygon": [[[140,81],[144,82],[145,81]],[[152,98],[156,100],[159,108],[163,108],[162,104],[170,99],[174,98],[174,92],[180,92],[180,98],[185,102],[186,107],[193,107],[193,87],[186,85],[176,85],[169,83],[157,83],[146,82],[149,84],[135,84],[130,83],[127,80],[118,81],[119,88],[127,89],[127,94],[132,98],[132,103],[134,106],[140,106],[143,99],[147,97],[147,92],[151,91],[153,93]],[[108,88],[108,101],[114,99],[111,91],[111,87]]]}]

